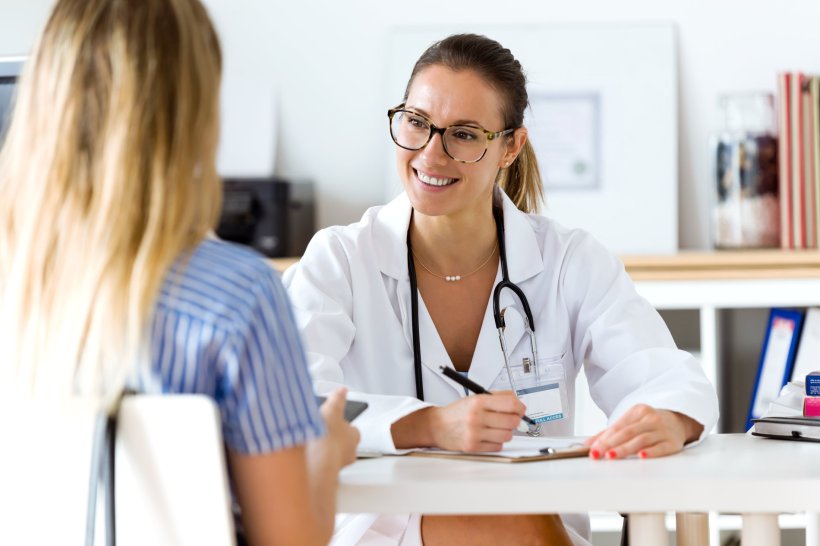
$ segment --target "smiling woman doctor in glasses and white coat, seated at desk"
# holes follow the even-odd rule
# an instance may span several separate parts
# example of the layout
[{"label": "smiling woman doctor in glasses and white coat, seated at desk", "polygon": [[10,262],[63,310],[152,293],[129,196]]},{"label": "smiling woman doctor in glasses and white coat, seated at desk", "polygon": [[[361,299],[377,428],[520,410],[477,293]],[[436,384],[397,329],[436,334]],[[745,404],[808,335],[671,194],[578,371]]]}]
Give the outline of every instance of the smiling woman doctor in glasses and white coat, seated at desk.
[{"label": "smiling woman doctor in glasses and white coat, seated at desk", "polygon": [[[362,449],[499,450],[525,412],[531,434],[572,435],[581,366],[610,423],[588,442],[594,459],[669,455],[716,422],[699,363],[618,259],[534,214],[525,83],[489,38],[432,45],[388,112],[404,193],[317,233],[285,274],[317,390],[347,385],[370,404]],[[503,392],[467,396],[441,366]],[[554,516],[367,518],[340,522],[337,543],[568,540]],[[585,517],[563,518],[585,544]]]}]

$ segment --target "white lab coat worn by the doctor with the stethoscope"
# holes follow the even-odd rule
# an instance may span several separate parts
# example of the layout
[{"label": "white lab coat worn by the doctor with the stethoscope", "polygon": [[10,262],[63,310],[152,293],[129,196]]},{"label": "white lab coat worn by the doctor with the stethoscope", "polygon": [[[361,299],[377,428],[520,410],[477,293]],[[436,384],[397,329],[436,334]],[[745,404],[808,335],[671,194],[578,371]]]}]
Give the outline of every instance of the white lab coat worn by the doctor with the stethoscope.
[{"label": "white lab coat worn by the doctor with the stethoscope", "polygon": [[[465,396],[439,371],[452,363],[419,297],[425,401],[415,398],[406,244],[410,211],[402,194],[369,209],[355,224],[320,231],[284,275],[316,390],[346,385],[349,398],[370,404],[356,420],[362,450],[394,451],[392,423]],[[593,400],[610,422],[645,403],[692,417],[706,434],[717,421],[715,390],[698,361],[677,349],[621,262],[589,234],[525,214],[506,196],[503,211],[509,276],[529,300],[539,357],[562,363],[565,373],[567,417],[545,423],[543,434],[573,434],[574,385],[581,366]],[[496,282],[500,279],[499,267]],[[501,307],[516,301],[511,291],[502,291]],[[507,313],[505,319],[511,361],[520,362],[530,354],[529,336],[518,313]],[[468,377],[490,390],[509,388],[502,372],[489,301]],[[588,537],[588,522],[565,522],[584,543],[577,535]]]}]

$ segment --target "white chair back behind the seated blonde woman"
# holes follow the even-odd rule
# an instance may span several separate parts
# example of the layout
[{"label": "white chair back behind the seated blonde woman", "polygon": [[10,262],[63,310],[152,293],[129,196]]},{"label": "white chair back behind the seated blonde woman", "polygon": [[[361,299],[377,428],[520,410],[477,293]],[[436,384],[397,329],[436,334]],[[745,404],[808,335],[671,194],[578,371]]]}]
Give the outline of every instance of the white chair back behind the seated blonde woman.
[{"label": "white chair back behind the seated blonde woman", "polygon": [[[87,402],[0,405],[0,544],[85,544],[95,418]],[[118,546],[235,544],[210,398],[127,396],[116,438]]]}]

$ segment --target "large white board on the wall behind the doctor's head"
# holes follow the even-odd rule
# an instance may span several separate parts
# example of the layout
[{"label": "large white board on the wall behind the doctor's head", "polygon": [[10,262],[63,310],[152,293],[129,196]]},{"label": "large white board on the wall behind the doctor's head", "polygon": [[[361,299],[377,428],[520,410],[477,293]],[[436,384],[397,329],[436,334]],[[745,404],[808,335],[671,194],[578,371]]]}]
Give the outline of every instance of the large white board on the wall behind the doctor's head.
[{"label": "large white board on the wall behind the doctor's head", "polygon": [[[401,101],[416,59],[430,44],[458,32],[485,34],[509,48],[524,67],[531,98],[597,97],[595,183],[550,187],[542,214],[564,226],[589,231],[619,254],[677,251],[674,26],[602,23],[394,28],[387,38],[385,104],[394,106]],[[534,114],[537,112],[529,111],[527,119]],[[390,199],[401,191],[401,181],[394,156],[389,154],[388,159],[385,197]]]}]

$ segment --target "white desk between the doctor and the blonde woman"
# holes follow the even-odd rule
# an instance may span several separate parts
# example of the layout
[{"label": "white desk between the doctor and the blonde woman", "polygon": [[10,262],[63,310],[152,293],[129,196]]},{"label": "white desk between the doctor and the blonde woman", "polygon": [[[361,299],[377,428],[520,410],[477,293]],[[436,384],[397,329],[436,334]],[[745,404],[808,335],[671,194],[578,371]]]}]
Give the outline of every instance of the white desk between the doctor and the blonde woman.
[{"label": "white desk between the doctor and the blonde woman", "polygon": [[[359,460],[341,474],[340,512],[629,513],[630,535],[659,544],[663,515],[742,513],[744,546],[780,543],[777,514],[820,512],[820,443],[709,437],[661,459],[485,463],[422,457]],[[660,522],[660,524],[658,523]],[[660,526],[659,526],[660,525]],[[820,541],[809,546],[820,546]]]}]

